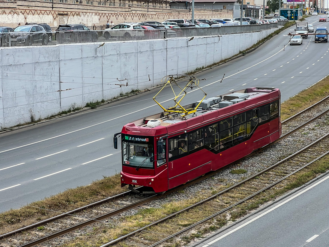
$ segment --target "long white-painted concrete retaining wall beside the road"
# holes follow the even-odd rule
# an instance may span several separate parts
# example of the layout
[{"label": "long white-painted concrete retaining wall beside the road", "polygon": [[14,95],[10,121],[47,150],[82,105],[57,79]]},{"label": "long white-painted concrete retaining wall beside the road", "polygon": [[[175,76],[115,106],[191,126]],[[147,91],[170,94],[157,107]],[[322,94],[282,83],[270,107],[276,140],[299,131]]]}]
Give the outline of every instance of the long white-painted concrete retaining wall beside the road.
[{"label": "long white-painted concrete retaining wall beside the road", "polygon": [[[0,49],[0,128],[161,83],[238,54],[277,28],[167,40]],[[123,81],[118,81],[123,80]],[[126,84],[118,86],[115,84]]]}]

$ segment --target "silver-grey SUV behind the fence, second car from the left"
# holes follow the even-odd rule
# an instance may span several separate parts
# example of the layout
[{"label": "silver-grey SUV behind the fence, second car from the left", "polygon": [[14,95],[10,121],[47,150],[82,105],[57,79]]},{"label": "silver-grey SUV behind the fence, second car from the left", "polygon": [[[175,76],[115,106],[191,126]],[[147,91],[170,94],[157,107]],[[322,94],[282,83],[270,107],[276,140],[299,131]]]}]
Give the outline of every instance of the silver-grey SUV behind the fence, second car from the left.
[{"label": "silver-grey SUV behind the fence, second car from the left", "polygon": [[16,27],[10,33],[12,45],[47,45],[49,38],[43,27],[38,25],[23,25]]}]

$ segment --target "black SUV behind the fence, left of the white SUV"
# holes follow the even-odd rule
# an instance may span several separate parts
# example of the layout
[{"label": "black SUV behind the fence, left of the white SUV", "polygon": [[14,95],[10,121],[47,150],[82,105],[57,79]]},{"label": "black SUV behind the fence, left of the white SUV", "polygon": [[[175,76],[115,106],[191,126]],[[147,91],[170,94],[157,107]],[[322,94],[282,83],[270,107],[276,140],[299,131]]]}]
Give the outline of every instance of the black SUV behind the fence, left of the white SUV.
[{"label": "black SUV behind the fence, left of the white SUV", "polygon": [[58,43],[96,42],[98,34],[83,24],[63,24],[56,29],[56,40]]}]

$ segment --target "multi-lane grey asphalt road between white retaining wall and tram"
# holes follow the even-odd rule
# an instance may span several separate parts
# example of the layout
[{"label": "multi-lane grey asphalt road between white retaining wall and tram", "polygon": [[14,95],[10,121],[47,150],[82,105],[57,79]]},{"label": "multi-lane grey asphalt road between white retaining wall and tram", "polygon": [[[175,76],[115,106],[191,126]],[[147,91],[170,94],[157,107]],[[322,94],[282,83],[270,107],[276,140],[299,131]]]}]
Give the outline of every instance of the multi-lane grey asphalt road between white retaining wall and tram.
[{"label": "multi-lane grey asphalt road between white retaining wall and tram", "polygon": [[[307,18],[319,23],[318,16]],[[247,87],[279,88],[282,101],[313,85],[328,72],[327,43],[288,44],[288,33],[276,35],[252,53],[196,75],[213,97]],[[328,56],[327,56],[328,55]],[[220,83],[220,80],[224,79]],[[184,84],[184,83],[183,83]],[[113,148],[113,135],[126,123],[161,112],[152,90],[74,116],[24,128],[0,136],[0,211],[19,208],[67,188],[88,185],[103,176],[121,171],[120,151]],[[157,100],[172,106],[171,89]],[[203,97],[200,91],[187,94],[186,104]]]}]

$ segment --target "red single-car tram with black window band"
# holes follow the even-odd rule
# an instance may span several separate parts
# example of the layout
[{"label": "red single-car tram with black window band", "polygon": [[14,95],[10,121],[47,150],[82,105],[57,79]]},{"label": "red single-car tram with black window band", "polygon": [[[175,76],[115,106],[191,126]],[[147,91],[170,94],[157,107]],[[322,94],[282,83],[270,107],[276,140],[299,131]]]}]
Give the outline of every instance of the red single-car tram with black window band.
[{"label": "red single-car tram with black window band", "polygon": [[[205,94],[206,95],[206,94]],[[226,166],[281,136],[280,91],[247,88],[123,126],[121,187],[164,192]]]}]

